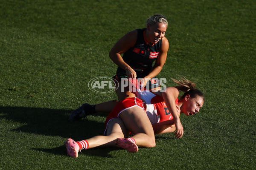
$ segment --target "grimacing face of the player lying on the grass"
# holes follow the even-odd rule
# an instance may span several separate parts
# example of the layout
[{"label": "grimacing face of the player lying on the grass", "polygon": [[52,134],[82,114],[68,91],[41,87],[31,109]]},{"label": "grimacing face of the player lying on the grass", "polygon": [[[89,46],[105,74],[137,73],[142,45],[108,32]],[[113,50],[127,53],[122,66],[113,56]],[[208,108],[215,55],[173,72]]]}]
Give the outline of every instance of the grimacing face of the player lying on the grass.
[{"label": "grimacing face of the player lying on the grass", "polygon": [[[189,95],[188,95],[189,96]],[[198,113],[204,104],[204,99],[200,96],[191,98],[190,96],[186,99],[186,111],[184,112],[186,116],[194,115]]]}]

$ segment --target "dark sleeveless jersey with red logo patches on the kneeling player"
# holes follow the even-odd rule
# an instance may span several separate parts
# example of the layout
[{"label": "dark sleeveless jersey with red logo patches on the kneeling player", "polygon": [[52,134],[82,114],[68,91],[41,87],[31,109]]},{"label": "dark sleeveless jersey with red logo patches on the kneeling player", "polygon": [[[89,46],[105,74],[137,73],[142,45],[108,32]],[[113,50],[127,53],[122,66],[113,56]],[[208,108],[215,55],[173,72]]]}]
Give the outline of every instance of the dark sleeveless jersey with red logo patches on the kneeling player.
[{"label": "dark sleeveless jersey with red logo patches on the kneeling player", "polygon": [[[162,40],[157,44],[150,46],[145,40],[146,28],[137,29],[137,41],[134,47],[130,48],[123,54],[123,60],[130,65],[137,74],[137,78],[143,78],[149,74],[153,67],[153,62],[157,59],[162,45]],[[117,77],[126,77],[126,71],[118,67],[116,71]]]}]

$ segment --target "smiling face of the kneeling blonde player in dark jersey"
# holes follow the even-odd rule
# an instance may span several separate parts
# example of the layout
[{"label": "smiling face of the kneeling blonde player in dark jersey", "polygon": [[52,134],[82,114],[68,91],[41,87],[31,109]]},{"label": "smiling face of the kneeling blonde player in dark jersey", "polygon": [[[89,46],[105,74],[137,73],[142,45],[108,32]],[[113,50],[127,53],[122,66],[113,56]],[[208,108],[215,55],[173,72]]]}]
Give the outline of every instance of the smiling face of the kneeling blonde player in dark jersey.
[{"label": "smiling face of the kneeling blonde player in dark jersey", "polygon": [[163,39],[166,33],[166,24],[164,23],[156,23],[152,26],[147,26],[148,31],[148,43],[156,44],[159,40]]}]

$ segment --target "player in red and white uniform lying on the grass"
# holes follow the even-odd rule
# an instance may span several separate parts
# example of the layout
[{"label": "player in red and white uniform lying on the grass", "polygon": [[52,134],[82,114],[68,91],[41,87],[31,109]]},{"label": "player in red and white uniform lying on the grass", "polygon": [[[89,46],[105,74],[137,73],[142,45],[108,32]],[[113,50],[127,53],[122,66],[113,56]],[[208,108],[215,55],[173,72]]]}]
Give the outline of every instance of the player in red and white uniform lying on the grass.
[{"label": "player in red and white uniform lying on the grass", "polygon": [[[73,139],[67,139],[65,142],[67,153],[72,157],[77,157],[78,152],[81,149],[90,149],[94,147],[121,147],[129,152],[137,152],[138,147],[154,147],[155,139],[154,134],[168,133],[175,130],[177,120],[180,113],[185,113],[186,116],[198,113],[202,105],[204,104],[204,95],[201,91],[195,89],[195,84],[183,79],[183,81],[175,80],[180,86],[166,88],[165,91],[159,94],[149,96],[147,91],[140,91],[137,88],[138,94],[141,99],[127,98],[122,102],[119,102],[111,111],[106,119],[105,136],[94,136],[90,139],[75,142]],[[186,91],[183,96],[177,101],[179,91]],[[137,95],[137,96],[139,96]],[[157,96],[159,95],[159,96]],[[169,108],[171,113],[178,115],[178,119],[160,122],[161,113],[165,108],[164,105],[160,105],[162,100],[166,103],[166,107]],[[156,107],[155,113],[152,113],[152,117],[158,117],[157,123],[149,121],[148,116],[145,114],[145,108]],[[177,102],[176,102],[177,101]],[[162,110],[161,110],[162,109]],[[150,110],[146,110],[150,112]],[[154,114],[156,116],[154,116]],[[164,116],[163,116],[164,117]],[[166,116],[168,118],[168,116]],[[153,120],[153,119],[152,119]],[[129,137],[129,132],[134,136]],[[175,133],[177,138],[181,138],[182,133]]]}]

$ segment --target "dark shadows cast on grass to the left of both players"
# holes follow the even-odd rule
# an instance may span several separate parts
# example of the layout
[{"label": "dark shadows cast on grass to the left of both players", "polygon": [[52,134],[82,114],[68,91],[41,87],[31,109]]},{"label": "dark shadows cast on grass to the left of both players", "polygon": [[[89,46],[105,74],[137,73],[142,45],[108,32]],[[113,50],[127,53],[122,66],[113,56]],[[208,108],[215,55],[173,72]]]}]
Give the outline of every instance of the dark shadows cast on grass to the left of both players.
[{"label": "dark shadows cast on grass to the left of both players", "polygon": [[[48,109],[48,108],[24,108],[24,107],[0,107],[3,116],[0,119],[6,119],[13,122],[19,122],[22,125],[13,131],[34,133],[46,136],[61,136],[64,138],[73,138],[74,140],[84,140],[92,136],[102,135],[105,129],[105,123],[92,119],[84,119],[77,122],[70,122],[69,116],[71,110]],[[103,113],[103,116],[105,114]],[[90,117],[90,116],[89,116]],[[64,143],[64,142],[63,142]],[[34,150],[44,151],[56,155],[66,155],[64,145],[51,149],[34,148]],[[110,157],[108,152],[113,148],[104,148],[105,152],[99,149],[86,151],[86,155]]]}]

